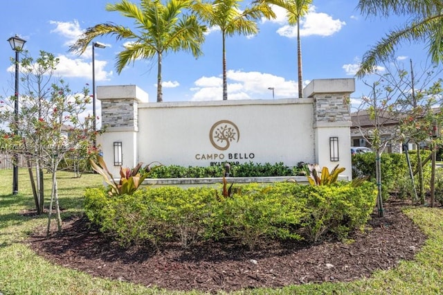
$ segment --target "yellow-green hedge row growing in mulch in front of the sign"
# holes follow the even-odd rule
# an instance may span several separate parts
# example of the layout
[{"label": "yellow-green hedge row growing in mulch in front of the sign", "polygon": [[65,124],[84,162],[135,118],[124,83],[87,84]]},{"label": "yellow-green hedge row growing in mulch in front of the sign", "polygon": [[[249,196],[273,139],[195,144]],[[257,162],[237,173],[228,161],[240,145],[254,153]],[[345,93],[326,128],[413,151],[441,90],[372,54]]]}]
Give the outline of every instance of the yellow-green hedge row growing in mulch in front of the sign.
[{"label": "yellow-green hedge row growing in mulch in front of the sign", "polygon": [[234,238],[254,248],[266,239],[345,238],[364,226],[375,206],[375,186],[276,183],[239,186],[231,197],[215,188],[147,188],[109,197],[90,188],[85,213],[120,244],[179,241],[183,248],[205,240]]}]

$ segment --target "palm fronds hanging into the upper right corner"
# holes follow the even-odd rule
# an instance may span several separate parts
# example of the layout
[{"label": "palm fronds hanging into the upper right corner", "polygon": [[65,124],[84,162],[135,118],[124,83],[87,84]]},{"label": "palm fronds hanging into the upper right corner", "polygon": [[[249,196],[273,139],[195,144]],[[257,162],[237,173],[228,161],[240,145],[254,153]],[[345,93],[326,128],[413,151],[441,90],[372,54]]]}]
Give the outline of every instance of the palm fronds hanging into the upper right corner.
[{"label": "palm fronds hanging into the upper right corner", "polygon": [[403,27],[390,31],[363,55],[356,76],[362,77],[374,70],[379,62],[388,60],[401,42],[428,43],[428,55],[435,63],[443,60],[443,1],[424,0],[360,0],[357,6],[365,15],[410,15]]}]

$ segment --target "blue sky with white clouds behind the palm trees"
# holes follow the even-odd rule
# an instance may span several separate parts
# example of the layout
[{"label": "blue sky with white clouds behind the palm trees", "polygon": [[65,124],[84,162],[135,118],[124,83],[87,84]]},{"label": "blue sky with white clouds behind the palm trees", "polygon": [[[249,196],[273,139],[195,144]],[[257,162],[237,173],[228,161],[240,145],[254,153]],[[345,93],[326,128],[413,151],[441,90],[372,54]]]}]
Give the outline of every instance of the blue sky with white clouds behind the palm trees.
[{"label": "blue sky with white clouds behind the palm trees", "polygon": [[[91,85],[91,48],[83,55],[68,52],[69,45],[88,27],[108,21],[132,27],[132,21],[118,12],[107,12],[111,0],[6,0],[1,2],[3,44],[0,44],[0,96],[13,93],[15,56],[6,40],[17,34],[27,40],[25,48],[37,57],[40,50],[60,57],[57,74],[80,91]],[[134,0],[134,2],[136,2]],[[244,1],[244,4],[249,1]],[[302,19],[303,83],[321,78],[353,78],[363,54],[388,30],[406,19],[367,19],[356,10],[357,0],[314,0]],[[296,26],[287,26],[284,11],[278,18],[260,22],[253,37],[237,35],[226,40],[228,100],[296,98]],[[120,75],[115,71],[116,53],[123,41],[114,37],[95,40],[107,45],[96,48],[96,85],[136,84],[156,101],[156,60],[137,60]],[[211,30],[202,47],[204,55],[170,53],[163,60],[163,101],[221,100],[221,34]],[[426,44],[404,44],[396,52],[400,60],[426,60]],[[370,80],[371,77],[365,78]],[[370,89],[356,81],[353,101]]]}]

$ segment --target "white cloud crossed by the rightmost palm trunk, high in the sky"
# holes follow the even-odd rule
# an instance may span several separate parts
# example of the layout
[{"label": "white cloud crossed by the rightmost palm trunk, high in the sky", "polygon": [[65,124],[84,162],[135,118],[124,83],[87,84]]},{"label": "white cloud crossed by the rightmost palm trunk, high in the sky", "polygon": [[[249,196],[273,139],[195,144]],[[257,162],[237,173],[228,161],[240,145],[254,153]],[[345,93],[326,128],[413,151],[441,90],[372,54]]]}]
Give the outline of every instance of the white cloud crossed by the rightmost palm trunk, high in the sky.
[{"label": "white cloud crossed by the rightmost palm trunk, high in the sky", "polygon": [[[341,30],[345,24],[345,21],[333,19],[326,13],[316,12],[316,7],[311,6],[307,15],[300,19],[300,36],[331,36]],[[296,38],[297,26],[289,26],[289,24],[285,24],[277,30],[277,33],[283,37]]]}]

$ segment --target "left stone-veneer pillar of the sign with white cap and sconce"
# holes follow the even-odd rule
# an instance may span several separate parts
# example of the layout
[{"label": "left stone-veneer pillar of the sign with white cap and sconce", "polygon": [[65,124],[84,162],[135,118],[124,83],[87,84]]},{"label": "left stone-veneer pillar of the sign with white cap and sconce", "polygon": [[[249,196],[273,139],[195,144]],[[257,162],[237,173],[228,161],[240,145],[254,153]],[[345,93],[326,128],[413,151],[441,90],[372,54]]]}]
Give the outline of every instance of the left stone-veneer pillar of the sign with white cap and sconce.
[{"label": "left stone-veneer pillar of the sign with white cap and sconce", "polygon": [[107,167],[118,177],[120,166],[114,166],[114,142],[122,143],[122,166],[136,166],[138,103],[148,102],[148,96],[136,85],[117,85],[97,87],[97,99],[102,105],[102,128],[105,128],[98,143]]}]

